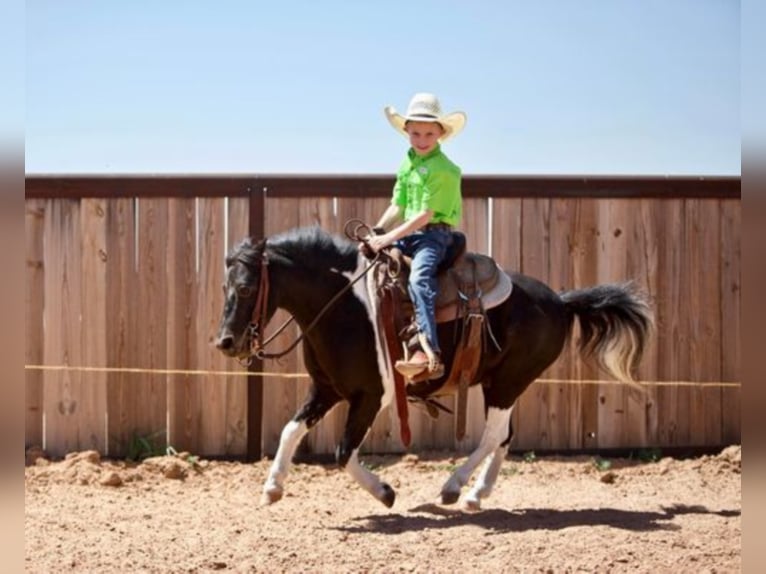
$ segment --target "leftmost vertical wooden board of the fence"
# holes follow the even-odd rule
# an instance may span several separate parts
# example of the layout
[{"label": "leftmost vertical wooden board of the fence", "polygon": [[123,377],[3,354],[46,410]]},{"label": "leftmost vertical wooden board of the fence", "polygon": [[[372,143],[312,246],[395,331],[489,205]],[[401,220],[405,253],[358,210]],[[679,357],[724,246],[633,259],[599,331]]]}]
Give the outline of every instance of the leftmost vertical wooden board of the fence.
[{"label": "leftmost vertical wooden board of the fence", "polygon": [[[50,200],[27,200],[24,215],[26,235],[25,346],[27,365],[41,365],[43,356],[43,309],[45,307],[45,265],[43,234],[46,203]],[[24,446],[43,444],[43,372],[27,369],[24,373]]]}]

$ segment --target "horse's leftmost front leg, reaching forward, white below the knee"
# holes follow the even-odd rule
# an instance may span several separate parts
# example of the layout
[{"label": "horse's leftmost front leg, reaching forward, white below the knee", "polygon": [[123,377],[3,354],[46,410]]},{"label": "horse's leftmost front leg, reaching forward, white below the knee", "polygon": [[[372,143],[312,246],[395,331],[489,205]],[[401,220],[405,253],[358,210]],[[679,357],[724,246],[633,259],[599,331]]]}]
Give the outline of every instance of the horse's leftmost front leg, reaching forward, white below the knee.
[{"label": "horse's leftmost front leg, reaching forward, white below the knee", "polygon": [[284,481],[290,470],[295,451],[306,433],[313,428],[327,412],[338,404],[340,397],[329,387],[312,385],[309,396],[295,416],[282,429],[279,448],[271,463],[269,475],[263,485],[261,504],[273,504],[282,498]]}]

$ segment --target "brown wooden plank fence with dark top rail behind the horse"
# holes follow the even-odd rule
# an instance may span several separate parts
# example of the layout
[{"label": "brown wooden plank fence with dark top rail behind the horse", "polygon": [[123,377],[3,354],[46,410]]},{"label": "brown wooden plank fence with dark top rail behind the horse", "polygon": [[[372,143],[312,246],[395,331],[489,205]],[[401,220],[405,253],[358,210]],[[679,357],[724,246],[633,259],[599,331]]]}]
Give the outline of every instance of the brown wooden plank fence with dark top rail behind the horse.
[{"label": "brown wooden plank fence with dark top rail behind the horse", "polygon": [[[224,254],[248,234],[373,222],[392,183],[27,177],[27,445],[123,456],[149,439],[205,456],[273,454],[308,379],[300,350],[247,372],[212,348]],[[657,332],[639,373],[646,392],[613,384],[570,346],[519,399],[514,450],[740,442],[739,178],[468,176],[464,197],[471,250],[556,290],[633,279],[654,301]],[[345,412],[337,407],[302,451],[333,452]],[[453,417],[416,411],[410,448],[466,452],[482,412],[472,390],[458,443]],[[393,409],[365,449],[403,450]]]}]

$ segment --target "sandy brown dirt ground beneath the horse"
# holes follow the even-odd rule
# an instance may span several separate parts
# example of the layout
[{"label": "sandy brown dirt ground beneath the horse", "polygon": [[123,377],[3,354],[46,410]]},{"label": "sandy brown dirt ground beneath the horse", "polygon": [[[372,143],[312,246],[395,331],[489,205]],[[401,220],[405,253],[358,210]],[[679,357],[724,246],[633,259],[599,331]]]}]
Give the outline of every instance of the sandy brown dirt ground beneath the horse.
[{"label": "sandy brown dirt ground beneath the horse", "polygon": [[656,462],[512,456],[478,513],[438,503],[464,460],[363,457],[393,508],[298,464],[260,506],[268,462],[141,464],[27,453],[27,572],[740,572],[741,448]]}]

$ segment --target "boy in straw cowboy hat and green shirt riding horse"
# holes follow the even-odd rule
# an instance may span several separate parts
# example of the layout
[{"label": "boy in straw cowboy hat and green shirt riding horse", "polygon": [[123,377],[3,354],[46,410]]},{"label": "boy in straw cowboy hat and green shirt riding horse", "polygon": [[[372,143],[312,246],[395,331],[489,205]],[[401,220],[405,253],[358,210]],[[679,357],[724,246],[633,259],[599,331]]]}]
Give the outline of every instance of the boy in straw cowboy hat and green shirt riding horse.
[{"label": "boy in straw cowboy hat and green shirt riding horse", "polygon": [[436,270],[462,214],[461,171],[444,155],[441,143],[463,129],[466,115],[442,114],[438,98],[427,93],[415,94],[405,115],[391,106],[384,112],[409,139],[410,148],[397,173],[391,205],[376,225],[385,232],[368,243],[374,252],[395,245],[412,257],[409,294],[422,348],[408,361],[397,361],[396,369],[406,377],[428,370],[429,378],[438,378],[444,365],[436,335]]}]

